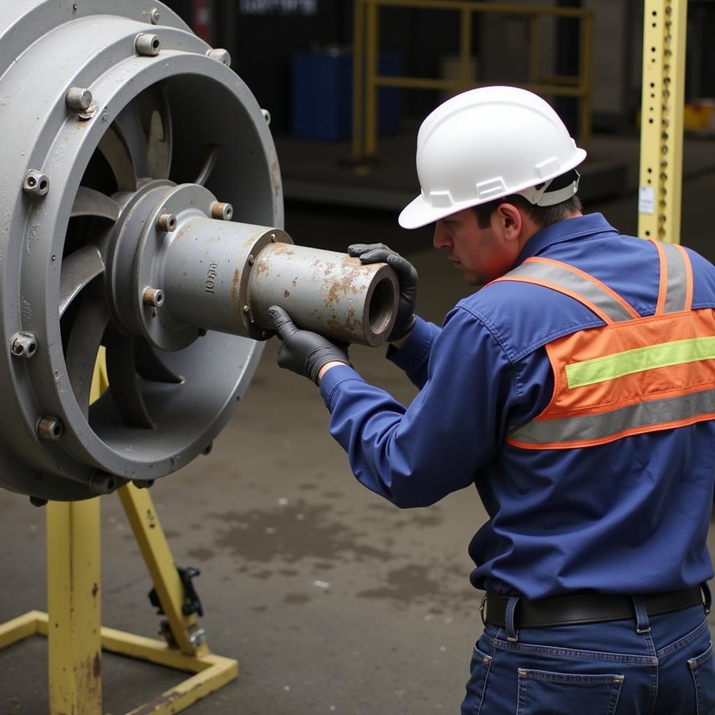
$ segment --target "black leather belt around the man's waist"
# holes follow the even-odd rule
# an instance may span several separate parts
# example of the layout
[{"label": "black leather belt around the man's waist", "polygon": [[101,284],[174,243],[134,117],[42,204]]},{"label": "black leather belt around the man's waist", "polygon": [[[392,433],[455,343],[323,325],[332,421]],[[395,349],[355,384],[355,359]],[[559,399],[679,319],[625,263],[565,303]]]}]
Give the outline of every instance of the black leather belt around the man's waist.
[{"label": "black leather belt around the man's waist", "polygon": [[[703,603],[700,586],[684,591],[649,593],[643,596],[649,616],[679,611],[681,608]],[[485,623],[506,626],[508,596],[486,593],[480,610]],[[515,628],[540,628],[543,626],[568,626],[573,623],[600,623],[634,618],[633,598],[611,593],[577,593],[568,596],[551,596],[538,601],[520,598],[514,611]]]}]

